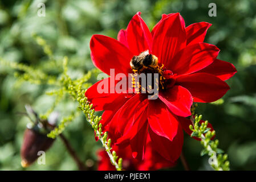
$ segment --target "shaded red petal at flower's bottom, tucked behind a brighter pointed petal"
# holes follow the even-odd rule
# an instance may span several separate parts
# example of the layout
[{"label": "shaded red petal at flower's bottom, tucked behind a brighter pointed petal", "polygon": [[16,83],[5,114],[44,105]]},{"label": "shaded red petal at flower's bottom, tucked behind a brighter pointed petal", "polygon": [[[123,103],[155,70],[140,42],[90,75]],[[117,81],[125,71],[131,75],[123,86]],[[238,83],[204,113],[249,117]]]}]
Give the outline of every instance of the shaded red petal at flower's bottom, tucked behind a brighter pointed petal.
[{"label": "shaded red petal at flower's bottom, tucked behind a brighter pointed petal", "polygon": [[183,145],[183,131],[182,127],[178,126],[176,137],[172,141],[157,135],[151,127],[149,127],[149,134],[152,140],[152,147],[156,150],[163,158],[175,162],[181,154]]}]

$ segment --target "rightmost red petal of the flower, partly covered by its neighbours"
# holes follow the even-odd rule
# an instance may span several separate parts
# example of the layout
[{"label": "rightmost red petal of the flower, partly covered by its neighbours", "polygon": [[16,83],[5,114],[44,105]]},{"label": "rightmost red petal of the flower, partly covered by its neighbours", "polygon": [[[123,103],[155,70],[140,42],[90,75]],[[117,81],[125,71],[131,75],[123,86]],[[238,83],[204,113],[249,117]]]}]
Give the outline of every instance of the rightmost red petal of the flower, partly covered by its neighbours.
[{"label": "rightmost red petal of the flower, partly covered by its neighbours", "polygon": [[216,59],[208,67],[201,69],[197,73],[210,73],[225,81],[233,77],[236,72],[237,69],[235,69],[233,64],[227,61]]}]

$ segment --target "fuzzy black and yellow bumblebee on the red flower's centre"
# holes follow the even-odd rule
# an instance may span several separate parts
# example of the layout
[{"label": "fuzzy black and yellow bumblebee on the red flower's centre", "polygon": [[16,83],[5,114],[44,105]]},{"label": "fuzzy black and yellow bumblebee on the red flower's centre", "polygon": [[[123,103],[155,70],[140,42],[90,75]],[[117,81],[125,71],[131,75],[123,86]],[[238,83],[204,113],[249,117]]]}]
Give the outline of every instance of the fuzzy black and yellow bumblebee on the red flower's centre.
[{"label": "fuzzy black and yellow bumblebee on the red flower's centre", "polygon": [[139,56],[133,56],[130,62],[134,72],[141,72],[147,68],[156,68],[158,59],[155,55],[149,54],[149,51],[141,52]]}]

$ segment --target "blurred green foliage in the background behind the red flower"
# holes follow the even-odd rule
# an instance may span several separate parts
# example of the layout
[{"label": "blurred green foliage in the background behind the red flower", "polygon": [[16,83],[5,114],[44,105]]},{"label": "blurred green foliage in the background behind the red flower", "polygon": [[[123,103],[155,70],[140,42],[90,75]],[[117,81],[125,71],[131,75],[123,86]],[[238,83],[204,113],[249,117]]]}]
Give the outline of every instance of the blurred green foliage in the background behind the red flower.
[{"label": "blurred green foliage in the background behind the red flower", "polygon": [[[46,16],[39,17],[38,3],[46,5]],[[217,16],[209,17],[209,3],[217,5]],[[256,2],[254,0],[208,1],[208,0],[23,0],[0,2],[0,57],[13,63],[23,63],[40,68],[46,75],[58,78],[62,71],[63,56],[69,57],[68,75],[83,76],[94,68],[90,58],[89,42],[93,34],[116,38],[121,28],[137,12],[152,28],[161,14],[180,12],[186,26],[195,22],[209,22],[205,42],[221,49],[219,59],[233,63],[238,73],[228,82],[231,89],[224,102],[200,104],[198,114],[212,123],[220,140],[220,148],[229,154],[231,169],[256,169]],[[39,35],[52,50],[38,46],[32,35]],[[15,73],[15,74],[14,74]],[[54,96],[44,94],[54,85],[30,84],[23,78],[15,78],[15,72],[0,65],[0,169],[21,170],[19,150],[23,132],[29,119],[17,114],[30,104],[44,114],[54,104]],[[90,80],[96,82],[96,78]],[[56,105],[55,110],[63,116],[77,109],[69,97]],[[96,150],[94,132],[83,113],[68,125],[64,135],[78,152],[80,158],[90,165]],[[210,169],[208,157],[200,157],[200,142],[188,135],[184,140],[184,153],[192,169]],[[68,155],[63,143],[57,139],[46,153],[46,165],[33,164],[30,170],[78,169]],[[182,169],[179,162],[173,169]]]}]

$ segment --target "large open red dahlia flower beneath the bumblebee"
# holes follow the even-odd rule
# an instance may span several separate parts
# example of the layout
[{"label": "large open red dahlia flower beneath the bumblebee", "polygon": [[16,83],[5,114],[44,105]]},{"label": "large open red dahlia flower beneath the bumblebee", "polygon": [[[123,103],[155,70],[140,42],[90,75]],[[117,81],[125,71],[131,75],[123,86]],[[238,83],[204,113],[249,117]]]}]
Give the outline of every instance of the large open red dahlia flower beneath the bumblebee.
[{"label": "large open red dahlia flower beneath the bumblebee", "polygon": [[[175,162],[181,154],[182,129],[191,122],[194,102],[213,102],[229,90],[225,80],[236,71],[233,64],[217,59],[220,49],[203,43],[210,23],[200,22],[185,27],[179,13],[162,15],[152,31],[140,13],[133,16],[126,30],[120,30],[117,40],[104,35],[92,36],[90,48],[94,65],[107,75],[133,73],[133,56],[148,50],[158,58],[159,98],[148,100],[147,93],[99,93],[91,86],[86,97],[96,111],[104,110],[101,123],[109,138],[120,146],[131,146],[132,156],[143,159],[149,134],[152,148],[163,158]],[[147,70],[146,70],[147,71]],[[120,78],[121,79],[121,78]],[[109,84],[108,89],[118,84]]]}]

